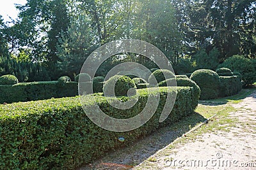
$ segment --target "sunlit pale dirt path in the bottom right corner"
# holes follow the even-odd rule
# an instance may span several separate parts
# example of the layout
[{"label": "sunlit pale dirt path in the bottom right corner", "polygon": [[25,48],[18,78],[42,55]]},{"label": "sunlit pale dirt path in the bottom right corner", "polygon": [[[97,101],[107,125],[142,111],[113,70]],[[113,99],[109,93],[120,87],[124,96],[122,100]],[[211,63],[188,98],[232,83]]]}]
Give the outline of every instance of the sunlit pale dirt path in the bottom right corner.
[{"label": "sunlit pale dirt path in the bottom right corner", "polygon": [[172,152],[166,152],[167,146],[134,169],[256,170],[256,92],[232,106],[237,111],[217,131],[179,144]]}]

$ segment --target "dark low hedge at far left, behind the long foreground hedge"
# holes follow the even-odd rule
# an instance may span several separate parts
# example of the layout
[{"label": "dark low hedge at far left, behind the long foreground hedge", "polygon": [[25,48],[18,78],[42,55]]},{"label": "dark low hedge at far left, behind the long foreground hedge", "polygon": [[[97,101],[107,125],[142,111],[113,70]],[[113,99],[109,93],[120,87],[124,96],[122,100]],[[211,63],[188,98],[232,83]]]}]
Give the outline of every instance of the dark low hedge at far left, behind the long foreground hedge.
[{"label": "dark low hedge at far left, behind the long foreground hedge", "polygon": [[0,85],[0,103],[73,97],[78,95],[77,85],[77,82],[60,83],[59,81]]}]

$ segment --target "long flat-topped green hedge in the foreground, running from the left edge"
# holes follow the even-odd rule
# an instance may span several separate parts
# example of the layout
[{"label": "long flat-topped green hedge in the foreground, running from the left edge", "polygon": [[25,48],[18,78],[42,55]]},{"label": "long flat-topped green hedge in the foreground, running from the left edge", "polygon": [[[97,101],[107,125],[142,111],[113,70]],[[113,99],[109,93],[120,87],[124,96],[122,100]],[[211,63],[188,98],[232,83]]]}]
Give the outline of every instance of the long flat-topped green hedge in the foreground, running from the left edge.
[{"label": "long flat-topped green hedge in the foreground, running from the left edge", "polygon": [[[174,92],[173,87],[160,89],[156,113],[145,125],[129,132],[106,131],[93,124],[86,117],[79,97],[1,104],[0,169],[74,169],[102,156],[107,150],[132,143],[155,131],[159,125],[171,124],[195,110],[195,102],[191,100],[193,88],[177,87],[173,110],[159,124],[166,95]],[[149,94],[147,89],[138,90],[138,102],[129,110],[116,110],[104,97],[99,94],[95,97],[104,113],[126,118],[140,113],[148,96],[156,94],[156,90]],[[124,136],[124,142],[118,141],[120,136]]]}]

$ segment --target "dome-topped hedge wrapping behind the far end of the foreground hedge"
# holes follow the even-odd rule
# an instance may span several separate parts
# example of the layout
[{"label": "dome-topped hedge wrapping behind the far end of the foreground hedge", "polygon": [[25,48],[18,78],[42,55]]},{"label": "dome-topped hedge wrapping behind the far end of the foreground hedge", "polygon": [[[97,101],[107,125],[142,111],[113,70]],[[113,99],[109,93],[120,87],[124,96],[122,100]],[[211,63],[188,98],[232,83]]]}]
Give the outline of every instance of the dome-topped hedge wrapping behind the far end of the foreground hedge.
[{"label": "dome-topped hedge wrapping behind the far end of the foreground hedge", "polygon": [[[173,78],[161,81],[158,83],[159,87],[166,87],[168,84],[172,85]],[[170,83],[168,83],[170,81]],[[176,78],[178,87],[193,87],[191,100],[193,101],[193,106],[196,107],[198,105],[198,100],[200,97],[200,88],[196,85],[195,81],[190,80],[189,78]]]}]

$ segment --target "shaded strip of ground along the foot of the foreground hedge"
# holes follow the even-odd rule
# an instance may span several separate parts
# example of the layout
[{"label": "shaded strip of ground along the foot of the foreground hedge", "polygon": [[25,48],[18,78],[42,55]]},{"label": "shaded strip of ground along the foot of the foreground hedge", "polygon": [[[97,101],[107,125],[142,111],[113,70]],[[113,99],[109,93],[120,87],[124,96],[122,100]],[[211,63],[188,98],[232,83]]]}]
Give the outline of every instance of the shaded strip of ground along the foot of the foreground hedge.
[{"label": "shaded strip of ground along the foot of the foreground hedge", "polygon": [[96,160],[92,164],[84,165],[77,170],[84,169],[131,169],[144,160],[154,155],[158,150],[172,143],[175,139],[188,132],[196,124],[206,120],[202,115],[193,113],[189,117],[184,117],[179,122],[161,127],[149,136],[139,139],[125,148],[107,152],[102,159]]}]

